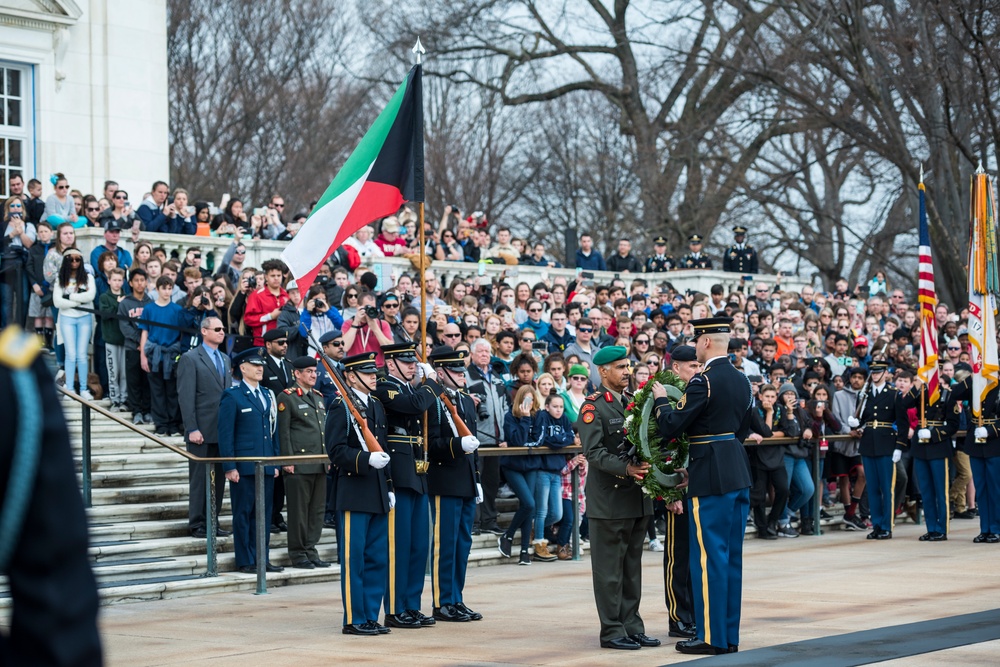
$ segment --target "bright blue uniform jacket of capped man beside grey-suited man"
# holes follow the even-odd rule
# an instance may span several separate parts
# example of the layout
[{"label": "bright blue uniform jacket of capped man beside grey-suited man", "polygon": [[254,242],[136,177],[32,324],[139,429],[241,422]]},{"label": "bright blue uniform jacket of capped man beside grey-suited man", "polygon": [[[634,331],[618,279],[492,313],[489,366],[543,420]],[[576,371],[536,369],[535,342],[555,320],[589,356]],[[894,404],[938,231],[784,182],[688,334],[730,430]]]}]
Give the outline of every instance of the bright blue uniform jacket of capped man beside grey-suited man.
[{"label": "bright blue uniform jacket of capped man beside grey-suited man", "polygon": [[[263,407],[247,385],[240,382],[222,392],[219,400],[219,456],[280,456],[277,414],[274,396],[261,386],[267,407]],[[253,475],[254,464],[245,461],[222,464],[226,472],[237,470],[241,476]],[[264,474],[273,475],[274,466],[265,466]]]}]

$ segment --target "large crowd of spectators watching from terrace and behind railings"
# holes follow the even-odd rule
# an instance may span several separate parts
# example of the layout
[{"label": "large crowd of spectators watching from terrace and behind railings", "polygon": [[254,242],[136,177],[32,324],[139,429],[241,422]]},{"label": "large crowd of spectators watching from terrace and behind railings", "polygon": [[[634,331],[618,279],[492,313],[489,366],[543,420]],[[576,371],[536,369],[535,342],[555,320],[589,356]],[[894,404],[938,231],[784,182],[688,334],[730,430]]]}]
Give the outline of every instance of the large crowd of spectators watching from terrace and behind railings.
[{"label": "large crowd of spectators watching from terrace and behind railings", "polygon": [[[888,360],[904,390],[916,370],[917,311],[901,289],[890,288],[884,273],[853,287],[840,279],[829,291],[782,289],[780,277],[775,285],[754,282],[756,252],[741,227],[734,228],[735,243],[722,258],[726,270],[741,274],[741,286],[733,291],[715,285],[708,294],[681,292],[671,284],[672,269],[711,268],[699,235],[691,237],[687,254],[674,260],[662,237],[648,257],[635,256],[630,241],[621,239],[605,259],[583,234],[576,267],[614,271],[617,277],[600,280],[584,272],[576,279],[554,276],[529,284],[517,279],[517,265],[560,266],[544,244],[515,237],[481,212],[464,216],[447,206],[436,225],[426,224],[423,251],[436,260],[487,261],[508,269],[491,278],[475,265],[450,275],[432,267],[421,292],[416,272],[383,276],[380,284],[370,270],[380,257],[420,253],[417,216],[404,206],[358,230],[302,293],[277,257],[260,267],[245,263],[244,239],[290,239],[307,217],[302,212],[286,218],[278,195],[248,211],[239,198],[225,196],[218,207],[191,202],[185,190],[158,181],[133,208],[114,181],[99,195],[70,189],[61,174],[51,181],[54,191],[43,199],[39,181],[10,179],[0,268],[5,275],[23,276],[22,283],[4,282],[5,323],[12,313],[22,313],[24,320],[17,323],[45,337],[61,369],[60,383],[87,399],[108,397],[112,409],[131,413],[134,423],[155,424],[160,434],[184,435],[174,365],[181,353],[200,344],[207,317],[221,321],[226,342],[220,349],[229,355],[264,346],[276,338],[275,331],[283,333],[287,348],[273,353],[289,358],[318,354],[314,341],[326,348],[339,340],[340,357],[379,353],[392,342],[415,341],[422,354],[444,344],[466,348],[482,446],[530,445],[542,452],[524,460],[484,459],[487,498],[477,529],[500,536],[502,551],[520,530],[525,548],[536,543],[536,560],[572,556],[566,525],[571,513],[563,505],[571,502],[570,470],[581,467],[585,474],[586,463],[558,449],[573,442],[572,424],[595,389],[593,357],[601,347],[626,347],[638,384],[670,367],[672,352],[690,339],[691,320],[733,318],[730,357],[755,394],[752,439],[798,439],[792,445],[751,446],[757,481],[753,516],[767,537],[809,532],[811,523],[804,519],[815,493],[822,494],[825,508],[844,504],[845,526],[864,527],[865,480],[855,464],[856,442],[829,443],[823,463],[827,483],[821,489],[813,484],[812,451],[826,435],[851,433],[847,416],[873,356]],[[104,243],[89,258],[75,242],[76,230],[84,226],[104,230]],[[189,234],[190,247],[183,256],[171,256],[158,233]],[[211,271],[203,265],[198,236],[232,238]],[[9,271],[12,267],[19,271]],[[19,299],[26,310],[15,307]],[[427,338],[421,344],[422,318]],[[972,370],[967,314],[941,304],[936,318],[942,381],[953,383]],[[272,352],[271,345],[267,349]],[[912,431],[915,423],[897,427]],[[953,507],[956,516],[971,518],[975,495],[968,460],[961,452],[955,457]],[[898,480],[904,492],[897,498],[904,498],[899,511],[912,512],[917,494],[912,484],[907,489],[906,465],[904,457]],[[503,530],[496,499],[513,495],[520,509]],[[798,520],[803,521],[796,530]],[[551,551],[537,544],[540,540],[552,544]]]}]

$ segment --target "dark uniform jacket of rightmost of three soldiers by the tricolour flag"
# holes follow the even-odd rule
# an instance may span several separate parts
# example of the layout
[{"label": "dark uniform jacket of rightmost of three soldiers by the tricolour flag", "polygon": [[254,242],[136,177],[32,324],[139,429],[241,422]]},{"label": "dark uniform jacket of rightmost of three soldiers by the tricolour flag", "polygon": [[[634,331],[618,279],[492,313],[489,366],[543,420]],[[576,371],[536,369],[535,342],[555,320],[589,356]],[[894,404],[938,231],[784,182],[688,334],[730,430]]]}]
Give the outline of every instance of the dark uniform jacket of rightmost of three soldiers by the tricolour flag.
[{"label": "dark uniform jacket of rightmost of three soldiers by the tricolour flag", "polygon": [[[476,435],[476,405],[466,393],[460,393],[458,400],[452,399],[465,425]],[[479,483],[479,454],[467,454],[462,449],[462,439],[451,428],[448,408],[441,401],[437,409],[427,413],[427,433],[430,437],[427,471],[427,491],[433,496],[458,496],[475,498]]]}]

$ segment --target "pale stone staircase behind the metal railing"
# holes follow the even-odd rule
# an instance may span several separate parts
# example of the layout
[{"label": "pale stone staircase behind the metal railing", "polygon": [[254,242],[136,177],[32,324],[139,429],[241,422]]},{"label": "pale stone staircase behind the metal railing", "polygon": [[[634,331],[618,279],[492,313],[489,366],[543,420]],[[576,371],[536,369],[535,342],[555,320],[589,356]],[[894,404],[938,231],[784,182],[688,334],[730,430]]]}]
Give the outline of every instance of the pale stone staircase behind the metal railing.
[{"label": "pale stone staircase behind the metal railing", "polygon": [[[98,404],[107,407],[107,401]],[[62,407],[74,456],[80,461],[81,407],[66,397],[62,398]],[[152,427],[143,428],[152,432]],[[183,447],[180,437],[167,440]],[[188,533],[186,459],[96,412],[91,412],[91,448],[93,506],[87,510],[87,517],[90,557],[102,604],[256,589],[256,575],[235,571],[232,538],[218,538],[219,574],[206,576],[206,541]],[[502,522],[509,523],[516,501],[498,503]],[[232,527],[228,486],[220,523],[223,528]],[[271,562],[290,565],[286,547],[285,533],[272,535]],[[318,551],[334,566],[315,570],[286,567],[284,572],[267,574],[268,588],[339,580],[336,531],[323,529]],[[500,555],[496,536],[473,537],[470,566],[516,562],[516,558]],[[6,582],[0,582],[0,609],[9,605]]]}]

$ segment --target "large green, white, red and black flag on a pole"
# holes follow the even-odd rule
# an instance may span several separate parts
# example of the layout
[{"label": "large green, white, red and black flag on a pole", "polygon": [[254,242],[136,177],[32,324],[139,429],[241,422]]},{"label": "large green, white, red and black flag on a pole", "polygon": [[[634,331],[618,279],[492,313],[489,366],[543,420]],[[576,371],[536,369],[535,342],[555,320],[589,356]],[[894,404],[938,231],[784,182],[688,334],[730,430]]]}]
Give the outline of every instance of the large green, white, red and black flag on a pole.
[{"label": "large green, white, red and black flag on a pole", "polygon": [[420,79],[415,65],[281,253],[302,294],[348,236],[406,202],[424,200]]}]

